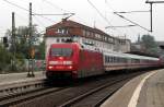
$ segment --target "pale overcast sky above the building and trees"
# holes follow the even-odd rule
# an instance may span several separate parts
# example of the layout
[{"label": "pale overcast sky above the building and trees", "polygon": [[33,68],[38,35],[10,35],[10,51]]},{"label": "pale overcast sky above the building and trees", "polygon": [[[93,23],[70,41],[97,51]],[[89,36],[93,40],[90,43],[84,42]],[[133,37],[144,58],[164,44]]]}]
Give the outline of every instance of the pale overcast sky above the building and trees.
[{"label": "pale overcast sky above the building and trees", "polygon": [[[15,12],[16,26],[28,25],[28,12],[10,3],[17,4],[28,10],[28,3],[33,3],[35,13],[75,13],[70,20],[84,25],[94,26],[113,35],[125,36],[132,41],[137,40],[138,35],[148,34],[147,31],[138,26],[126,28],[105,28],[106,26],[131,25],[131,23],[115,15],[113,12],[120,11],[149,11],[150,4],[145,0],[0,0],[0,36],[3,36],[7,28],[11,28],[11,13]],[[155,0],[154,0],[155,1]],[[103,16],[93,8],[101,12]],[[153,4],[153,33],[149,33],[156,40],[164,40],[164,3]],[[127,13],[122,14],[127,19],[150,29],[150,13]],[[38,31],[45,31],[45,27],[61,21],[63,16],[33,16],[33,24],[37,24]],[[107,20],[106,20],[107,19]]]}]

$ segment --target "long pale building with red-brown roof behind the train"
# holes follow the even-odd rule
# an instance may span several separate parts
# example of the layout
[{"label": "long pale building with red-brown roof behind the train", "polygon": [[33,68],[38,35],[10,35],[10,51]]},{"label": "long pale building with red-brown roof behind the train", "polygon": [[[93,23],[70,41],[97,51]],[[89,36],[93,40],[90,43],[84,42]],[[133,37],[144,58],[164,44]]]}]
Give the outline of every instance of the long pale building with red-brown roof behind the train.
[{"label": "long pale building with red-brown roof behind the train", "polygon": [[70,20],[46,28],[45,34],[46,51],[50,44],[77,41],[84,48],[99,51],[130,51],[130,40],[113,37],[101,29],[93,28]]}]

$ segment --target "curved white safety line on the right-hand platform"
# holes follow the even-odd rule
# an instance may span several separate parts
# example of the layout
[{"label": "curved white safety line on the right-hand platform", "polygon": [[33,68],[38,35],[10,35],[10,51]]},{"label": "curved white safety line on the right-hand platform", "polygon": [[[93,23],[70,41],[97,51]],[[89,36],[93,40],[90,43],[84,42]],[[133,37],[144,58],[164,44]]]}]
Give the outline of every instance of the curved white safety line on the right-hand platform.
[{"label": "curved white safety line on the right-hand platform", "polygon": [[151,75],[153,75],[156,72],[151,72],[150,74],[148,74],[147,76],[144,76],[142,79],[142,81],[139,83],[139,85],[134,90],[134,93],[133,93],[133,95],[132,95],[132,97],[131,97],[131,99],[130,99],[130,102],[128,104],[128,107],[137,107],[137,103],[138,103],[138,99],[139,99],[139,96],[140,96],[140,92],[141,92],[141,88],[142,88],[145,80],[149,79]]}]

